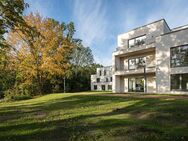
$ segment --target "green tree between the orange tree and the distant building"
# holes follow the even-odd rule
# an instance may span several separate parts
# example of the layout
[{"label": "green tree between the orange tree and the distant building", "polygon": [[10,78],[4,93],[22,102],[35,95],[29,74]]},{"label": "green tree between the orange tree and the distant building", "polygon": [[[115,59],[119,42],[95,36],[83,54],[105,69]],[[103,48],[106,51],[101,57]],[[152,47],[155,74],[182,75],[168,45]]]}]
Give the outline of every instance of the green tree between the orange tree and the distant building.
[{"label": "green tree between the orange tree and the distant building", "polygon": [[67,73],[67,91],[90,90],[90,76],[96,72],[99,64],[94,64],[93,54],[89,47],[84,47],[81,40],[77,40],[76,48],[71,55],[71,69]]}]

